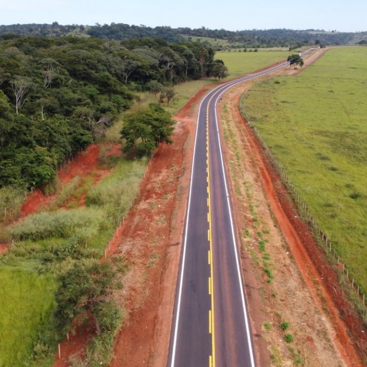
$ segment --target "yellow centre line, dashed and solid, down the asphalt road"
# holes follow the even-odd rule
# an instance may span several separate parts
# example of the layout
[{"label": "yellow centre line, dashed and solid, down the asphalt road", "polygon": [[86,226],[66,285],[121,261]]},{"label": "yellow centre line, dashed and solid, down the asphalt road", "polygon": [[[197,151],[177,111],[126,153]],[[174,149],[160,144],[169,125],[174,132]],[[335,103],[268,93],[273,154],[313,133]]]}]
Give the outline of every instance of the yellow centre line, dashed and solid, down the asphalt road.
[{"label": "yellow centre line, dashed and solid, down the asphalt road", "polygon": [[[212,97],[211,97],[212,98]],[[211,242],[211,218],[210,218],[210,178],[209,178],[209,103],[211,98],[208,101],[206,106],[206,183],[207,183],[207,221],[209,224],[209,229],[207,233],[208,242],[209,242],[209,250],[208,250],[208,265],[210,266],[210,277],[208,279],[208,291],[211,299],[211,309],[209,310],[209,333],[211,334],[211,346],[212,346],[212,354],[209,355],[209,367],[215,367],[215,334],[214,334],[214,286],[213,286],[213,249]]]}]

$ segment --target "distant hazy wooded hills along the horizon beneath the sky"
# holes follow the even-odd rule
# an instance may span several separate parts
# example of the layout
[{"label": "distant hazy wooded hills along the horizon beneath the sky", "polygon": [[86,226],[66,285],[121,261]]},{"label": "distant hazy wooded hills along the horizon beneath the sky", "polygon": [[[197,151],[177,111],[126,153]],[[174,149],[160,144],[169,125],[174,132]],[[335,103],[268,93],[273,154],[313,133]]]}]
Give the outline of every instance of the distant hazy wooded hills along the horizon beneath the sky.
[{"label": "distant hazy wooded hills along the horizon beneath the sky", "polygon": [[[171,28],[169,26],[147,27],[145,25],[129,25],[124,23],[111,23],[92,26],[52,24],[12,24],[0,25],[0,36],[43,36],[65,37],[78,36],[110,40],[126,40],[129,38],[160,38],[167,42],[181,42],[188,38],[199,42],[206,42],[201,38],[225,40],[226,43],[217,46],[217,49],[241,47],[275,47],[275,46],[302,46],[302,45],[347,45],[356,44],[367,40],[367,32],[351,33],[336,30],[324,31],[319,29],[292,30],[292,29],[252,29],[241,31],[228,31],[225,29],[208,29],[205,27]],[[198,40],[199,38],[199,40]]]}]

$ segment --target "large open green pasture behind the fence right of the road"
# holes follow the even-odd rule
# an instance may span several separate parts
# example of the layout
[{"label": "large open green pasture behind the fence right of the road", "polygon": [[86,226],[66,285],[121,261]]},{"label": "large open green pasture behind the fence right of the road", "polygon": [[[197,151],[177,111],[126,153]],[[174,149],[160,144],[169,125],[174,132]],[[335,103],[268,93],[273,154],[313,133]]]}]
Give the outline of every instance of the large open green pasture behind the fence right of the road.
[{"label": "large open green pasture behind the fence right of the road", "polygon": [[297,76],[266,80],[243,99],[251,122],[365,293],[366,87],[367,47],[334,48]]}]

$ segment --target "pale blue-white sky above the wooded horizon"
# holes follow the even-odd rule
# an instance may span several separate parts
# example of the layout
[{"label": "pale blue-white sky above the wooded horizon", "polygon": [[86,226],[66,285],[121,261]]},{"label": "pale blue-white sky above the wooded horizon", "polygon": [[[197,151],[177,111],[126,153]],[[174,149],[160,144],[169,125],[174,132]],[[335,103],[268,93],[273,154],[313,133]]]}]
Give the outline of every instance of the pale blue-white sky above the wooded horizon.
[{"label": "pale blue-white sky above the wooded horizon", "polygon": [[209,29],[367,31],[366,0],[0,0],[0,24],[126,23]]}]

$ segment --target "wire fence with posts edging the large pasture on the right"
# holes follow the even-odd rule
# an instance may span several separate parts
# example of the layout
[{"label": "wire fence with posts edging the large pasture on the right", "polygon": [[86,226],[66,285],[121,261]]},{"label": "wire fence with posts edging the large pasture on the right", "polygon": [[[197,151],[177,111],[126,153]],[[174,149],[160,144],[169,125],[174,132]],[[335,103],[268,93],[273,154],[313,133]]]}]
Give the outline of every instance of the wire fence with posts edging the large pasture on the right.
[{"label": "wire fence with posts edging the large pasture on the right", "polygon": [[352,277],[352,279],[349,279],[349,269],[345,266],[344,262],[341,261],[340,256],[338,256],[338,257],[336,256],[335,248],[332,247],[331,241],[329,240],[327,234],[324,231],[321,230],[321,227],[316,222],[315,218],[312,216],[311,211],[307,207],[306,203],[303,201],[303,199],[299,195],[295,185],[291,182],[291,180],[289,179],[289,177],[285,173],[284,168],[281,166],[279,161],[275,158],[273,152],[270,150],[270,148],[268,147],[268,145],[266,144],[264,139],[261,137],[261,135],[260,135],[259,131],[256,129],[256,127],[253,126],[250,122],[248,122],[249,121],[248,119],[246,119],[246,121],[247,121],[247,124],[254,131],[256,137],[260,141],[263,148],[265,149],[266,155],[271,159],[274,167],[277,168],[278,172],[280,173],[280,177],[281,177],[283,183],[285,183],[291,189],[291,191],[293,192],[294,198],[298,202],[298,209],[302,208],[303,214],[305,214],[305,216],[308,218],[310,226],[317,233],[319,233],[319,236],[320,236],[322,242],[326,246],[326,251],[325,252],[329,251],[329,253],[331,254],[333,260],[335,262],[337,262],[338,268],[342,268],[342,274],[345,275],[347,284],[357,294],[358,299],[360,300],[362,306],[365,309],[364,310],[365,313],[366,313],[365,317],[367,317],[367,307],[366,307],[366,302],[365,302],[365,299],[366,299],[365,293],[362,294],[360,292],[360,286],[359,286],[359,284],[356,283],[354,277]]}]

